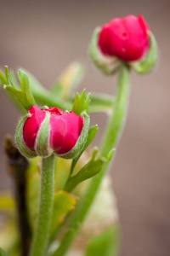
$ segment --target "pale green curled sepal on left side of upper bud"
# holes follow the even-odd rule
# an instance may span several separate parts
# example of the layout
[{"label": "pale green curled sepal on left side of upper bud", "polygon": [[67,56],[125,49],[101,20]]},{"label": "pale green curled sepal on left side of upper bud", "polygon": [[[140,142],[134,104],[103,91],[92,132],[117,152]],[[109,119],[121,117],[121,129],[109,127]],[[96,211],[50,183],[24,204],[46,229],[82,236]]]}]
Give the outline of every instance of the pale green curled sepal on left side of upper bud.
[{"label": "pale green curled sepal on left side of upper bud", "polygon": [[89,53],[92,61],[96,67],[99,67],[107,75],[111,75],[116,72],[119,67],[120,61],[115,56],[103,55],[99,50],[99,32],[101,31],[100,27],[97,27],[94,30],[92,36],[91,44],[89,47]]}]

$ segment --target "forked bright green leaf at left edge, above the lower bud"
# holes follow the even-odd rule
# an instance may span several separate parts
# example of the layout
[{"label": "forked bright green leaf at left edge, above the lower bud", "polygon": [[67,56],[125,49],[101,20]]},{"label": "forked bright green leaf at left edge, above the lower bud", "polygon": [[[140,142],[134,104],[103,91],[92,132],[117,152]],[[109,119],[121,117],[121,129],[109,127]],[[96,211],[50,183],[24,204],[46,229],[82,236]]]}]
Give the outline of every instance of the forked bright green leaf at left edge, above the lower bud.
[{"label": "forked bright green leaf at left edge, above the lower bud", "polygon": [[14,85],[16,87],[16,84],[14,83],[14,76],[9,76],[8,67],[6,67],[6,77],[8,80],[8,84],[4,85],[4,89],[8,90],[9,93],[15,96],[18,99],[18,101],[22,104],[22,106],[26,108],[26,110],[29,110],[33,105],[37,106],[37,103],[34,97],[32,96],[29,79],[26,73],[24,73],[21,70],[19,70],[18,72],[21,90],[14,88]]}]

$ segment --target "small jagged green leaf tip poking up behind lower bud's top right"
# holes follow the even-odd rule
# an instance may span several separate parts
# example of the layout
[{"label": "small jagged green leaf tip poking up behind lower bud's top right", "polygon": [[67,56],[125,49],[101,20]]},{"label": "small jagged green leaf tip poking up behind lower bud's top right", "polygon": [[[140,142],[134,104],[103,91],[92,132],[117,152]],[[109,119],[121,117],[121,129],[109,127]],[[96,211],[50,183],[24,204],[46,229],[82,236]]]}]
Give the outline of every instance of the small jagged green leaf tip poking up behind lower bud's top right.
[{"label": "small jagged green leaf tip poking up behind lower bud's top right", "polygon": [[75,102],[73,103],[72,111],[77,115],[81,115],[82,112],[86,111],[88,113],[88,105],[90,102],[90,94],[86,96],[86,90],[82,90],[82,95],[77,93]]}]

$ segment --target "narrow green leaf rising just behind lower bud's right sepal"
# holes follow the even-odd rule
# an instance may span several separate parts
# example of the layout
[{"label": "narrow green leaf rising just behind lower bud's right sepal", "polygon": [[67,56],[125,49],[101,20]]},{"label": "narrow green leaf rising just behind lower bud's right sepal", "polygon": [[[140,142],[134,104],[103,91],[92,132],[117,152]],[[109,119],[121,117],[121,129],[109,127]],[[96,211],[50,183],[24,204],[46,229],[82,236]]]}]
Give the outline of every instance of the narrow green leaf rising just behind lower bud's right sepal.
[{"label": "narrow green leaf rising just behind lower bud's right sepal", "polygon": [[72,160],[72,164],[71,164],[71,173],[72,174],[75,166],[77,165],[77,161],[79,160],[79,158],[81,157],[82,153],[84,152],[84,150],[86,150],[86,148],[88,148],[89,144],[93,142],[94,137],[96,136],[97,132],[98,132],[98,125],[94,125],[92,126],[89,131],[88,131],[88,138],[86,143],[84,144],[84,146],[82,147],[82,149],[79,151],[79,154],[77,154],[77,156]]}]

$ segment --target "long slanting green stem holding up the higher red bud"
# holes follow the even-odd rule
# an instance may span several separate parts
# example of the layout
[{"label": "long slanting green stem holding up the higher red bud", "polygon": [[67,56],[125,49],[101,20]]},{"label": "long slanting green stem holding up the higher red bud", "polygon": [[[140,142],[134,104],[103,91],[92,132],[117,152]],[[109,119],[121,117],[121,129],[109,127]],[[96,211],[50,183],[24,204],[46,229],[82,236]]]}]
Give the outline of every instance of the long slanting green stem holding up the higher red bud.
[{"label": "long slanting green stem holding up the higher red bud", "polygon": [[[107,156],[110,150],[116,147],[118,138],[122,131],[123,123],[127,112],[127,102],[129,95],[129,67],[125,63],[122,63],[120,67],[119,85],[116,94],[116,102],[114,104],[114,111],[112,112],[111,119],[108,128],[105,133],[105,137],[101,147],[101,156]],[[91,207],[94,197],[98,192],[99,185],[102,178],[108,169],[108,164],[105,164],[104,168],[98,175],[96,175],[90,183],[86,194],[82,197],[74,217],[72,218],[71,225],[65,233],[65,236],[60,242],[59,248],[54,252],[53,256],[63,256],[71,246],[71,242],[77,236],[77,232],[80,230],[82,223]]]}]

